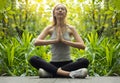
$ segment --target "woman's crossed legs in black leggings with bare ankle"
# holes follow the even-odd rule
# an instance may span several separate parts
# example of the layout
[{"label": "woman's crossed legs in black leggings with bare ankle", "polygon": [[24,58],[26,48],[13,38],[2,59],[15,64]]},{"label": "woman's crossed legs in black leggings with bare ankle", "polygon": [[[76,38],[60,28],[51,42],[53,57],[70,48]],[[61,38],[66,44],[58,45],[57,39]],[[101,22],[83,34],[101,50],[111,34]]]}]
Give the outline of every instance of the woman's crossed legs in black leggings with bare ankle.
[{"label": "woman's crossed legs in black leggings with bare ankle", "polygon": [[87,68],[89,65],[89,61],[85,58],[80,58],[75,62],[70,61],[67,64],[63,64],[62,66],[57,66],[57,62],[47,63],[46,61],[42,60],[38,56],[31,57],[30,61],[32,66],[39,70],[39,68],[44,69],[45,71],[51,73],[54,77],[55,76],[65,76],[70,77],[69,74],[71,71],[80,69],[80,68]]}]

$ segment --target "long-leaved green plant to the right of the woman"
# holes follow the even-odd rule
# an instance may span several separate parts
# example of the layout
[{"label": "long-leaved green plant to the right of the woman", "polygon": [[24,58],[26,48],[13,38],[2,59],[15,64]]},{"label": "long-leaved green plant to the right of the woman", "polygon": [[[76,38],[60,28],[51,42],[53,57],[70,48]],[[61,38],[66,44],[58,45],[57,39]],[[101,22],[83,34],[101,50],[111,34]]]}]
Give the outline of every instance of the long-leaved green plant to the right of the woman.
[{"label": "long-leaved green plant to the right of the woman", "polygon": [[120,57],[120,43],[115,43],[116,41],[112,38],[99,38],[94,32],[88,34],[87,37],[85,39],[87,45],[85,55],[90,60],[90,74],[110,75]]}]

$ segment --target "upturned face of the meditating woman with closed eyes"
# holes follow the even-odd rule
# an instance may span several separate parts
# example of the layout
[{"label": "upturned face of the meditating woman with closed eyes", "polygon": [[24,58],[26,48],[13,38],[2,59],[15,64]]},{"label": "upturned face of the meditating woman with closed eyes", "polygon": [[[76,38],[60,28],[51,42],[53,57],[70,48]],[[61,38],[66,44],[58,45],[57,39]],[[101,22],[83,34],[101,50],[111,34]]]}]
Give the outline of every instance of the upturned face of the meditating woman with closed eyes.
[{"label": "upturned face of the meditating woman with closed eyes", "polygon": [[56,18],[65,18],[67,14],[67,10],[65,8],[64,5],[58,5],[56,6],[55,10],[54,10],[54,16]]}]

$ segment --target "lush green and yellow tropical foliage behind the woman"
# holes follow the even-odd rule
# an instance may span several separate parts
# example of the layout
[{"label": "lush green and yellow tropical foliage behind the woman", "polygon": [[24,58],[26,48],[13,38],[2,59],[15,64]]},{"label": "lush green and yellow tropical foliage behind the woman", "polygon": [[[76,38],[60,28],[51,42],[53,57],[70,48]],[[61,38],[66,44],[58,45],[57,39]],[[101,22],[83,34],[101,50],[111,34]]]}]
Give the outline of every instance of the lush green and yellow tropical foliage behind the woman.
[{"label": "lush green and yellow tropical foliage behind the woman", "polygon": [[120,0],[0,0],[0,75],[30,76],[37,70],[29,58],[50,61],[50,46],[35,47],[34,39],[52,23],[52,8],[63,3],[67,22],[86,44],[71,48],[73,60],[86,57],[89,75],[120,75]]}]

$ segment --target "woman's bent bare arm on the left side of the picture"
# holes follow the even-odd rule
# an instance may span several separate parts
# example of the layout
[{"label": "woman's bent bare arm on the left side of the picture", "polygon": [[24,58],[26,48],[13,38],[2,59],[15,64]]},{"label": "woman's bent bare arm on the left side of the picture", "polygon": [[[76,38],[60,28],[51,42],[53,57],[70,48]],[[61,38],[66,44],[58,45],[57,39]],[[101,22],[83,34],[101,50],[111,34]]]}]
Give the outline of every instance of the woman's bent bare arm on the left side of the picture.
[{"label": "woman's bent bare arm on the left side of the picture", "polygon": [[58,40],[55,39],[55,40],[44,40],[45,37],[47,35],[50,34],[50,29],[51,27],[46,27],[42,32],[41,34],[37,37],[37,39],[35,40],[35,43],[34,45],[35,46],[40,46],[40,45],[49,45],[49,44],[53,44],[53,43],[56,43]]}]

